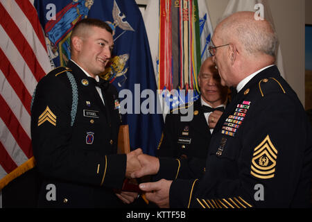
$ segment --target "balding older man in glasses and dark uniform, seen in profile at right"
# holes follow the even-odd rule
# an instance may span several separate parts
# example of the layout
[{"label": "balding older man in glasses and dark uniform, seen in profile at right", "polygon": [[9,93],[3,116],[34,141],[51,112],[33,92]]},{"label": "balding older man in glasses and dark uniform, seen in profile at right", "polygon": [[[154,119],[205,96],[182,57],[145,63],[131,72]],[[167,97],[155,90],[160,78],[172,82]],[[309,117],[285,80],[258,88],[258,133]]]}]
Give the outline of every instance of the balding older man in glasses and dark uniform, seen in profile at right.
[{"label": "balding older man in glasses and dark uniform, seen in profile at right", "polygon": [[[218,24],[212,43],[221,84],[238,93],[214,128],[205,175],[140,188],[160,207],[310,207],[311,126],[274,65],[275,31],[254,12],[237,12]],[[132,176],[170,171],[162,159],[139,160],[144,168]],[[175,166],[172,178],[183,167]]]}]

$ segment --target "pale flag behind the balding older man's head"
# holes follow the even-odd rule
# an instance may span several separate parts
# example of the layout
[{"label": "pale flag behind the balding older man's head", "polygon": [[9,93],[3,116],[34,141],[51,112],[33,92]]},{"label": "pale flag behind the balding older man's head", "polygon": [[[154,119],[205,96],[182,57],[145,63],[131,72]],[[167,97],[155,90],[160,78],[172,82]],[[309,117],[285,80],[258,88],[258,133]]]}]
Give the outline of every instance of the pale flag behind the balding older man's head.
[{"label": "pale flag behind the balding older man's head", "polygon": [[[232,15],[234,12],[241,11],[253,11],[257,12],[257,17],[263,17],[268,20],[274,27],[273,17],[270,10],[270,6],[267,0],[230,0],[225,8],[223,17]],[[284,71],[283,57],[281,56],[281,46],[278,46],[276,53],[276,65],[279,68],[279,72],[284,79],[286,79],[286,74]]]}]

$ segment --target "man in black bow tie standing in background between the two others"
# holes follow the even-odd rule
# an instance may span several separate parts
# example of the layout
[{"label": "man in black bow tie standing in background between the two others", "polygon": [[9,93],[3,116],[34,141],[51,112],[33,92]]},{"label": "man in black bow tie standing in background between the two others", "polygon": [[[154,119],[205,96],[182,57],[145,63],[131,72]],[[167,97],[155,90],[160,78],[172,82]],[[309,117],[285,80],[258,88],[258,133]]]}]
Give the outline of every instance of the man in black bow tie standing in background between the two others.
[{"label": "man in black bow tie standing in background between the two others", "polygon": [[157,148],[159,157],[206,159],[211,134],[227,101],[227,87],[220,85],[218,70],[211,58],[207,58],[200,67],[198,85],[200,99],[185,105],[185,108],[193,105],[191,121],[182,121],[184,107],[167,114],[162,140]]}]

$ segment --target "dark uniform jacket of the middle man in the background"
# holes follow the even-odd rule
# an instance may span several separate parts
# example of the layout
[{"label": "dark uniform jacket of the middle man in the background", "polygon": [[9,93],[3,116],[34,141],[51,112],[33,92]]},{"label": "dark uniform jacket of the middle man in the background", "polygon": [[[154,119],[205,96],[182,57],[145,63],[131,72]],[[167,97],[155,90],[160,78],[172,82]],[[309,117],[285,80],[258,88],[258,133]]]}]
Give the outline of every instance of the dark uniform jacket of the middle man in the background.
[{"label": "dark uniform jacket of the middle man in the background", "polygon": [[[190,121],[182,121],[187,112],[193,112],[193,118]],[[205,119],[201,99],[198,99],[182,108],[173,109],[166,115],[162,139],[156,154],[157,157],[176,158],[178,162],[187,162],[189,171],[195,173],[193,177],[196,178],[205,172],[210,139],[211,131]]]}]

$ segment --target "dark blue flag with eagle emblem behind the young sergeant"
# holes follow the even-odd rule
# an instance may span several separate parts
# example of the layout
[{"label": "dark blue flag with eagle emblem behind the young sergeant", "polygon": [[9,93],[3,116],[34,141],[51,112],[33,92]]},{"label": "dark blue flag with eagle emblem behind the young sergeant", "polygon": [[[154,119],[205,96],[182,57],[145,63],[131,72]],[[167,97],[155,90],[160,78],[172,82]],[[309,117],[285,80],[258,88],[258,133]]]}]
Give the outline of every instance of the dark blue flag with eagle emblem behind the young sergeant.
[{"label": "dark blue flag with eagle emblem behind the young sergeant", "polygon": [[[123,124],[129,125],[130,148],[142,148],[144,153],[155,155],[163,120],[162,114],[157,114],[153,63],[135,0],[35,0],[35,7],[55,67],[65,66],[70,60],[71,30],[81,19],[101,19],[111,26],[114,50],[101,77],[110,80],[123,96],[121,106],[128,101],[126,112],[121,114]],[[146,106],[148,112],[141,112]]]}]

